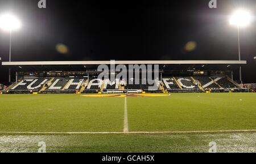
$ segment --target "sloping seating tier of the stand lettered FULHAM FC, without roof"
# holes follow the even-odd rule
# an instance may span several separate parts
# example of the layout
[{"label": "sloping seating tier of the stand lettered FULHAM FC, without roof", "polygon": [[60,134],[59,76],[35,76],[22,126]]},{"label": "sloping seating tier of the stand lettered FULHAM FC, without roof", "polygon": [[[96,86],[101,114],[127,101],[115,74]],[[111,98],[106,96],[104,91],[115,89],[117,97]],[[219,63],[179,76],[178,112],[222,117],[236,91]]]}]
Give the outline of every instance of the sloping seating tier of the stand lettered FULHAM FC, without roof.
[{"label": "sloping seating tier of the stand lettered FULHAM FC, without roof", "polygon": [[[9,93],[162,93],[162,92],[242,92],[236,82],[226,76],[176,76],[163,77],[161,80],[154,80],[148,84],[134,84],[130,79],[130,84],[126,81],[115,79],[90,79],[84,77],[38,77],[35,79],[23,79],[12,85]],[[150,89],[153,85],[154,89]]]}]

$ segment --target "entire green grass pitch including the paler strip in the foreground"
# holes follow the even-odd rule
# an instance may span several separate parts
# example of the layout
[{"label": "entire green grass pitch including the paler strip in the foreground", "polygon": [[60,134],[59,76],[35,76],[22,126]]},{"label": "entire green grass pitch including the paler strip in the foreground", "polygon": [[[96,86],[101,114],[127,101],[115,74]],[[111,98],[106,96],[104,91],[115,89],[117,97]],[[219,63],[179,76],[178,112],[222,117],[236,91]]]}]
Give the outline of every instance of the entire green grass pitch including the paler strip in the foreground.
[{"label": "entire green grass pitch including the paler strip in the foreground", "polygon": [[[208,152],[210,141],[218,152],[256,152],[255,100],[253,93],[126,97],[135,133],[122,133],[125,97],[1,94],[0,152],[37,152],[39,141],[47,152]],[[226,130],[234,132],[200,132]]]}]

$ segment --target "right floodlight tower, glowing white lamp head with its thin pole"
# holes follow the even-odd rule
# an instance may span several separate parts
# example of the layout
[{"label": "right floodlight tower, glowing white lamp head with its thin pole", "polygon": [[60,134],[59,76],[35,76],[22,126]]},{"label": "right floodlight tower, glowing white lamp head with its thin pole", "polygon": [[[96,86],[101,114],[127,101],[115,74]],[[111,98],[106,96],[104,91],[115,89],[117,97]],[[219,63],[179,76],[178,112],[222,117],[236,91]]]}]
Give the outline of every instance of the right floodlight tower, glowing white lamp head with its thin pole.
[{"label": "right floodlight tower, glowing white lamp head with its thin pole", "polygon": [[[229,19],[230,25],[236,25],[237,27],[237,35],[238,35],[238,56],[239,61],[241,61],[241,51],[240,51],[240,28],[246,27],[250,24],[251,15],[249,11],[246,10],[237,10],[233,13],[233,15]],[[240,83],[242,83],[242,68],[240,66]]]}]

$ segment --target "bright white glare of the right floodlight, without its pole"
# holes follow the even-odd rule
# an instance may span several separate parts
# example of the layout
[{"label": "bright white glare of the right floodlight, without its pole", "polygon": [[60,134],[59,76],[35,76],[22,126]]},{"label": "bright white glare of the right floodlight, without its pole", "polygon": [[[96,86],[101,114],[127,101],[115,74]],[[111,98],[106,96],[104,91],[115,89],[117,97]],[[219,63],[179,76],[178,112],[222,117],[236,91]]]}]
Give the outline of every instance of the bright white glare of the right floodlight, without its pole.
[{"label": "bright white glare of the right floodlight, without its pole", "polygon": [[229,19],[229,24],[245,27],[250,24],[251,15],[248,11],[237,10]]}]

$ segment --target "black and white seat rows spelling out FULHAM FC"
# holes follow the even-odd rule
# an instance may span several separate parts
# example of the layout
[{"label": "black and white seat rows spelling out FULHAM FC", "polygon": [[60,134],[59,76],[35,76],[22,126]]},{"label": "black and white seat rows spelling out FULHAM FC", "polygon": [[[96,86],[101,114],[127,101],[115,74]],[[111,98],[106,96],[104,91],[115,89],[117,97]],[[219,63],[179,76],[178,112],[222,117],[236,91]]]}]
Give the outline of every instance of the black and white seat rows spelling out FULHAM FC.
[{"label": "black and white seat rows spelling out FULHAM FC", "polygon": [[[221,89],[221,88],[239,88],[234,81],[228,79],[225,76],[193,76],[193,77],[163,77],[162,80],[139,79],[139,84],[135,84],[133,79],[128,80],[115,79],[110,81],[109,79],[87,79],[83,78],[69,78],[69,77],[53,77],[36,79],[23,79],[19,81],[10,90],[35,90],[38,92],[43,90],[81,90],[83,87],[86,91],[99,91],[99,90],[114,90],[114,89],[138,89],[138,90],[150,90],[154,86],[155,90],[200,90],[203,89]],[[146,81],[146,83],[144,83]],[[202,89],[201,89],[202,90]]]}]

